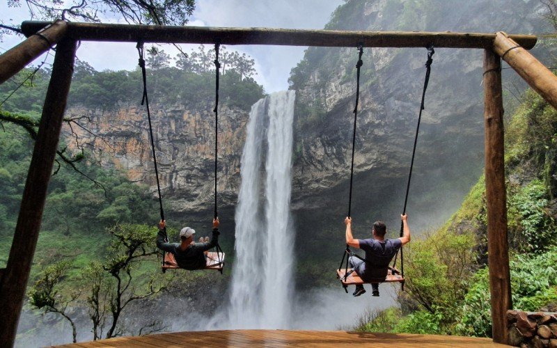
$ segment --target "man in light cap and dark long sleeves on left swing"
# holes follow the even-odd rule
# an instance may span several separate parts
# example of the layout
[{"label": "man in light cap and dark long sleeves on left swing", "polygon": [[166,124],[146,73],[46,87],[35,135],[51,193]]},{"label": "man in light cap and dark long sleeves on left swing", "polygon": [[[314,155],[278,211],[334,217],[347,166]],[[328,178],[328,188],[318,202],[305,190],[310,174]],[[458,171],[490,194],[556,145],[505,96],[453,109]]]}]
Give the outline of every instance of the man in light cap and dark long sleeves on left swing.
[{"label": "man in light cap and dark long sleeves on left swing", "polygon": [[219,242],[219,218],[213,219],[213,234],[209,242],[194,243],[196,231],[193,228],[185,227],[180,230],[180,243],[168,243],[164,240],[166,237],[165,227],[166,221],[160,221],[157,248],[173,254],[180,268],[204,269],[207,264],[207,250],[213,248]]}]

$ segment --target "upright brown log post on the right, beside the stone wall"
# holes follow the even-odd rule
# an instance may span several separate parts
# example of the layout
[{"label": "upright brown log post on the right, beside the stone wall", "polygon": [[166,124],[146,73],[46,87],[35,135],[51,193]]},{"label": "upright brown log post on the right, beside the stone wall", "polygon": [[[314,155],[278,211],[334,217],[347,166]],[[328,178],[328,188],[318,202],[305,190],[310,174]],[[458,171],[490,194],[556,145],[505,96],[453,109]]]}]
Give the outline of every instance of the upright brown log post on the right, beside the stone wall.
[{"label": "upright brown log post on the right, beside the stone wall", "polygon": [[512,307],[507,242],[507,197],[503,136],[501,58],[484,53],[485,195],[487,198],[487,260],[491,290],[493,340],[507,343],[507,310]]}]

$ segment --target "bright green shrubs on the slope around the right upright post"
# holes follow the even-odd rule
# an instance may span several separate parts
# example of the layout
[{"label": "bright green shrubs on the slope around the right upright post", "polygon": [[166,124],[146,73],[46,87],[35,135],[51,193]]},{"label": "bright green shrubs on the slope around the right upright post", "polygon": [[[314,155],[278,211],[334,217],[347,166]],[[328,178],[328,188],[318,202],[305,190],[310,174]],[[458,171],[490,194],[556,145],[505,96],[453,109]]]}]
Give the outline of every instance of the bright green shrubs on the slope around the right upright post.
[{"label": "bright green shrubs on the slope around the right upright post", "polygon": [[[556,139],[557,111],[528,91],[510,118],[505,158],[512,301],[520,310],[557,303]],[[482,176],[446,226],[409,244],[402,310],[364,315],[358,329],[490,337],[486,219]]]}]

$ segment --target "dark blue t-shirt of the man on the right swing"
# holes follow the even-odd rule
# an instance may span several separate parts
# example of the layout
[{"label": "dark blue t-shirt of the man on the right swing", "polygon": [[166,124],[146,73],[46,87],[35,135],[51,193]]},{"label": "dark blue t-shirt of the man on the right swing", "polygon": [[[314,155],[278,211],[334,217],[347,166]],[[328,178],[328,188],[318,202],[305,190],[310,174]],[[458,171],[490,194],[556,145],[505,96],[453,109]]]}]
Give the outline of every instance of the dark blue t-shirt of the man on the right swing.
[{"label": "dark blue t-shirt of the man on the right swing", "polygon": [[[386,269],[391,259],[402,246],[400,239],[386,239],[379,242],[377,239],[360,239],[360,248],[366,252],[366,262],[362,279],[385,278]],[[360,267],[359,267],[360,268]]]}]

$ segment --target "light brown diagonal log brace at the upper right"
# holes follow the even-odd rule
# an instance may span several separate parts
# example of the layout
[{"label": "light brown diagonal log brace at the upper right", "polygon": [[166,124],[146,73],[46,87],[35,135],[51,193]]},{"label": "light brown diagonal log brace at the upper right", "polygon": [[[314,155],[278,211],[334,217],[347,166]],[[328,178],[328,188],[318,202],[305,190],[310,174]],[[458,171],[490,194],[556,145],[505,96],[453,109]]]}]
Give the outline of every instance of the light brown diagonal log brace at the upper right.
[{"label": "light brown diagonal log brace at the upper right", "polygon": [[493,49],[533,90],[557,109],[557,76],[551,70],[502,31],[496,33]]}]

